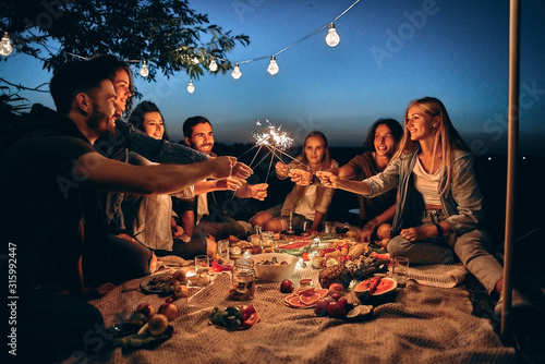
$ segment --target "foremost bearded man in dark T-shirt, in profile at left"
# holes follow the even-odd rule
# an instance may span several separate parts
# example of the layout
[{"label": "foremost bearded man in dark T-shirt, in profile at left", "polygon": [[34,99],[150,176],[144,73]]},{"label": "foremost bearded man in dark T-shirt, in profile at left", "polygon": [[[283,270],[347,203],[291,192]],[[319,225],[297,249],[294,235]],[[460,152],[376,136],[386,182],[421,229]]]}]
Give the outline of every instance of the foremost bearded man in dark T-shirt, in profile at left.
[{"label": "foremost bearded man in dark T-shirt, in profile at left", "polygon": [[[206,178],[228,178],[235,163],[220,157],[141,167],[100,156],[93,144],[119,117],[110,76],[88,61],[66,63],[50,83],[57,112],[35,105],[27,120],[2,131],[8,137],[0,145],[1,254],[16,262],[16,283],[9,292],[4,284],[3,296],[14,300],[17,313],[16,326],[2,333],[16,329],[10,354],[21,362],[60,362],[61,352],[84,354],[104,344],[100,313],[66,295],[66,290],[84,293],[78,275],[84,189],[170,194]],[[7,266],[0,264],[1,277],[9,277]],[[96,347],[88,348],[92,343]]]}]

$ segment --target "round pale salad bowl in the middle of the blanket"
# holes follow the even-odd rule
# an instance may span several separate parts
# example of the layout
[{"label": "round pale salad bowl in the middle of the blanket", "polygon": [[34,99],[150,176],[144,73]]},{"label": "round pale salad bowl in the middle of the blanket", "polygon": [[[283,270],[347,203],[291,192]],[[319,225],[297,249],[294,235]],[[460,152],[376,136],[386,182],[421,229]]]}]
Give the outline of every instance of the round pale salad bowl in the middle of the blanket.
[{"label": "round pale salad bowl in the middle of the blanket", "polygon": [[299,258],[283,253],[264,253],[252,255],[255,277],[266,281],[282,281],[293,275]]}]

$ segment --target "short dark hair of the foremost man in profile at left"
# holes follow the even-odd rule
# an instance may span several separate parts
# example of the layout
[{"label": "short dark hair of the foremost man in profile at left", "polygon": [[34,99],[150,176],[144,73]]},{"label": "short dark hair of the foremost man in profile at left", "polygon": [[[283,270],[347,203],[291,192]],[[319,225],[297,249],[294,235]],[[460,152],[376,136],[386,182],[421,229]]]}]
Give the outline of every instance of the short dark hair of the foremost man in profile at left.
[{"label": "short dark hair of the foremost man in profile at left", "polygon": [[89,61],[64,63],[49,82],[49,92],[57,111],[68,114],[77,94],[90,94],[100,87],[102,81],[110,80],[112,72],[98,68]]}]

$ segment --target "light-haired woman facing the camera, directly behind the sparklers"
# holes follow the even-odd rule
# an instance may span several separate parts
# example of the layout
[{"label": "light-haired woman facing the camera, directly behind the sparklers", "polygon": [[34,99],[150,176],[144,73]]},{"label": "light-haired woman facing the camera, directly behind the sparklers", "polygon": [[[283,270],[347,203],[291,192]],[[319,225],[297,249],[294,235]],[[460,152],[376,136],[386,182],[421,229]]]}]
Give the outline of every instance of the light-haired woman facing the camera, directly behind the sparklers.
[{"label": "light-haired woman facing the camera, directly behind the sparklers", "polygon": [[339,163],[329,158],[327,138],[322,132],[306,135],[303,153],[295,160],[284,165],[277,162],[276,172],[279,179],[291,178],[295,186],[288,194],[283,205],[269,208],[254,216],[250,222],[263,227],[264,230],[280,232],[288,230],[290,213],[292,228],[300,230],[303,221],[312,221],[308,229],[317,231],[332,198],[332,190],[314,184],[316,171],[338,168]]}]

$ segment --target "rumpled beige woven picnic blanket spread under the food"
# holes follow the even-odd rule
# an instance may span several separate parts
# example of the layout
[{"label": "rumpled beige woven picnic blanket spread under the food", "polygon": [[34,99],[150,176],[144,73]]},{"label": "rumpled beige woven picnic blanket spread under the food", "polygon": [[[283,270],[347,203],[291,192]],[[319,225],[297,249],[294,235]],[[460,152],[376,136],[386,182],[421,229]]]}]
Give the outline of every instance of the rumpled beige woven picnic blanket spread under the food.
[{"label": "rumpled beige woven picnic blanket spread under the food", "polygon": [[[296,268],[295,277],[317,276]],[[138,280],[93,302],[113,325],[143,302],[155,307],[164,298],[145,295]],[[316,282],[316,281],[315,281]],[[375,308],[363,323],[316,317],[314,311],[284,305],[278,282],[259,282],[253,304],[261,321],[244,331],[209,325],[214,306],[226,301],[230,278],[220,275],[207,288],[192,289],[187,302],[178,301],[181,315],[171,323],[173,336],[153,350],[100,352],[92,363],[511,363],[514,350],[505,348],[488,319],[471,315],[462,288],[434,288],[409,281],[395,302]],[[317,284],[317,283],[315,283]],[[122,291],[124,291],[122,293]],[[355,302],[349,295],[349,301]]]}]

